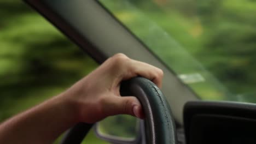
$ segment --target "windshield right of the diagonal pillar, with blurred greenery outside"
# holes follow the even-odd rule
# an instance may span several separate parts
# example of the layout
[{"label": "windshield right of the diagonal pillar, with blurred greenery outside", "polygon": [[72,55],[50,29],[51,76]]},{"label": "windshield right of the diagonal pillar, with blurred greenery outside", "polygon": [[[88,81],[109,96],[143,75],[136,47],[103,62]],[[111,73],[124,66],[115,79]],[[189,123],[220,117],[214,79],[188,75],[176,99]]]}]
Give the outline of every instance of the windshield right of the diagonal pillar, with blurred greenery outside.
[{"label": "windshield right of the diagonal pillar, with blurred greenery outside", "polygon": [[256,1],[100,2],[202,100],[256,103]]}]

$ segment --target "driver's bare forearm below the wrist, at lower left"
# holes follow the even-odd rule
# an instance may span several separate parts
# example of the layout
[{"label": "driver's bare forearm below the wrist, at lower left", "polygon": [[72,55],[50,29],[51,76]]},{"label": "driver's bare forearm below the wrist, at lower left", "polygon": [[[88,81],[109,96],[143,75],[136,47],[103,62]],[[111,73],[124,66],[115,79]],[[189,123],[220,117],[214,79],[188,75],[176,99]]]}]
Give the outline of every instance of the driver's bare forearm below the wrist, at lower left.
[{"label": "driver's bare forearm below the wrist, at lower left", "polygon": [[62,95],[8,119],[0,125],[0,143],[52,143],[77,123],[75,107]]}]

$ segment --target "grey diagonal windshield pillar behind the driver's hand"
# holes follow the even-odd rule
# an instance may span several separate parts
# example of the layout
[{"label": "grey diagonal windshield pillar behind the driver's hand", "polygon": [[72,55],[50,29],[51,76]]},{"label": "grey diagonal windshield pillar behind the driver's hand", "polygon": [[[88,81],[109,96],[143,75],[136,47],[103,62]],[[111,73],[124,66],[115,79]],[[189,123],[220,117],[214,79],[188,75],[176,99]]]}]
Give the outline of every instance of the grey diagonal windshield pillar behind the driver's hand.
[{"label": "grey diagonal windshield pillar behind the driver's hand", "polygon": [[[74,0],[69,1],[68,4],[66,1],[48,0],[26,0],[26,2],[98,63],[102,63],[115,53],[124,53],[130,58],[162,69],[165,75],[161,91],[170,104],[174,119],[178,124],[183,124],[184,104],[190,100],[199,100],[199,97],[100,2],[94,0]],[[81,9],[83,11],[79,11]]]}]

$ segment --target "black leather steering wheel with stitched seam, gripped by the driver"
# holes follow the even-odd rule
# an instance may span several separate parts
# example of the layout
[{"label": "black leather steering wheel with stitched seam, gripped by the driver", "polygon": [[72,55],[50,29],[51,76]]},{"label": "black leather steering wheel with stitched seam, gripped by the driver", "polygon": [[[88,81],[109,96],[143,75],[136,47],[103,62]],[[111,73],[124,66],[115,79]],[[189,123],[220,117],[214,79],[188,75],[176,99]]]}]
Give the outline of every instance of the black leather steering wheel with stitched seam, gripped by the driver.
[{"label": "black leather steering wheel with stitched seam, gripped by the driver", "polygon": [[[145,113],[147,143],[178,143],[170,106],[160,89],[153,82],[143,77],[135,77],[121,83],[120,93],[122,96],[133,95],[141,102]],[[81,143],[92,125],[78,123],[67,131],[61,143]]]}]

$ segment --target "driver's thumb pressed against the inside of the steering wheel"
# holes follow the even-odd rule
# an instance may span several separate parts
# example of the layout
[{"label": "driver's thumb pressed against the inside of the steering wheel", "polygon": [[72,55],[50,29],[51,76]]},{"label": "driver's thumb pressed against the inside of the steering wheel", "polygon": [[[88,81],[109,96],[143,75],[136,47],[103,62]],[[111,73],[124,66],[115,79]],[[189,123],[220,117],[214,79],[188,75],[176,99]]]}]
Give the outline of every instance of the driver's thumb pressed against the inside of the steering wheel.
[{"label": "driver's thumb pressed against the inside of the steering wheel", "polygon": [[127,114],[138,118],[144,118],[142,106],[136,97],[109,97],[105,109],[107,115]]}]

